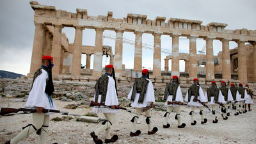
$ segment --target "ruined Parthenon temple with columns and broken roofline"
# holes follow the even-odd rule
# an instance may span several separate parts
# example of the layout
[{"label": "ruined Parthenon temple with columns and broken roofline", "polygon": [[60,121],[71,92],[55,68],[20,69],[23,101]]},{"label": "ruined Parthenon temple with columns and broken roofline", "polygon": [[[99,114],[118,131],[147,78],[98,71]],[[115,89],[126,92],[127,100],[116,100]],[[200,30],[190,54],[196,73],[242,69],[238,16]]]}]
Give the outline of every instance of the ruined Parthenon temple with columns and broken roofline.
[{"label": "ruined Parthenon temple with columns and broken roofline", "polygon": [[[140,72],[142,68],[142,35],[149,33],[154,36],[154,62],[152,77],[161,79],[161,35],[172,37],[172,55],[166,57],[165,71],[168,72],[168,60],[172,59],[172,76],[180,76],[179,60],[186,61],[185,71],[188,78],[198,77],[198,62],[196,54],[196,38],[204,38],[206,41],[205,58],[205,81],[211,81],[214,77],[213,40],[222,42],[221,52],[221,79],[232,79],[232,65],[230,62],[229,42],[237,43],[238,80],[248,83],[248,56],[246,45],[250,43],[252,55],[250,57],[250,81],[256,83],[256,30],[248,29],[225,29],[227,24],[211,22],[207,26],[202,25],[200,20],[174,19],[166,22],[166,17],[156,17],[154,20],[147,19],[147,15],[128,13],[123,19],[113,18],[113,12],[108,15],[90,16],[87,10],[77,9],[76,13],[65,10],[56,10],[55,6],[40,5],[31,1],[31,8],[35,11],[35,37],[29,74],[33,74],[42,64],[43,55],[51,55],[54,58],[54,76],[71,74],[74,77],[81,76],[81,54],[86,54],[86,69],[90,70],[90,56],[94,54],[92,77],[102,74],[102,51],[108,50],[111,57],[110,63],[114,65],[116,77],[124,79],[123,71],[123,33],[133,32],[135,38],[134,72]],[[64,27],[76,29],[74,44],[69,44],[67,36],[61,32]],[[82,45],[83,30],[95,29],[95,46]],[[116,32],[115,54],[111,47],[103,47],[102,35],[104,30]],[[179,52],[179,37],[189,38],[189,54],[181,58]],[[104,50],[105,49],[105,50]],[[111,51],[111,52],[110,52]]]}]

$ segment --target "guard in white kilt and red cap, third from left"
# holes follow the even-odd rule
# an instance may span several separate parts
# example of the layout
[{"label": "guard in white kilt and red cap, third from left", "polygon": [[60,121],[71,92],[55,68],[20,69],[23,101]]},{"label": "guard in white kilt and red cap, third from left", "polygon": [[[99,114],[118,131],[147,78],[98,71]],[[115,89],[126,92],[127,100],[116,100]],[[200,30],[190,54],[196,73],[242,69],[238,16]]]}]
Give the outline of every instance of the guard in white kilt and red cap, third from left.
[{"label": "guard in white kilt and red cap, third from left", "polygon": [[[134,82],[132,89],[128,95],[128,99],[131,100],[131,106],[136,109],[137,115],[133,116],[131,119],[131,132],[130,136],[139,136],[141,134],[140,130],[136,130],[136,124],[138,122],[138,118],[140,117],[141,113],[143,112],[142,109],[147,108],[154,108],[155,102],[155,95],[154,95],[154,87],[152,82],[148,77],[148,70],[142,70],[142,77],[136,79]],[[148,134],[155,134],[158,129],[154,127],[152,129],[152,122],[151,122],[151,111],[147,109],[146,113],[146,123],[148,126]]]}]

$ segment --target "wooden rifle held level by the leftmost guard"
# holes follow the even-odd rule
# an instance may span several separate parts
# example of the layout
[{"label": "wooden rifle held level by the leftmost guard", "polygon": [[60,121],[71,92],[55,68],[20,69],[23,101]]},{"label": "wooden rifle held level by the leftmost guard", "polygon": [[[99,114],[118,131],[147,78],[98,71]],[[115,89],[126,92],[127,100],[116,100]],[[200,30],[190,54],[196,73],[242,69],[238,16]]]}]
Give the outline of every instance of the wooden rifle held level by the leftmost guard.
[{"label": "wooden rifle held level by the leftmost guard", "polygon": [[[28,113],[36,113],[36,108],[0,108],[0,115],[6,115],[9,113],[18,113],[19,111],[23,111],[25,114]],[[72,116],[80,116],[76,114],[68,114],[68,111],[59,111],[59,110],[54,110],[54,109],[43,109],[42,113],[61,113],[61,115],[72,115]]]}]

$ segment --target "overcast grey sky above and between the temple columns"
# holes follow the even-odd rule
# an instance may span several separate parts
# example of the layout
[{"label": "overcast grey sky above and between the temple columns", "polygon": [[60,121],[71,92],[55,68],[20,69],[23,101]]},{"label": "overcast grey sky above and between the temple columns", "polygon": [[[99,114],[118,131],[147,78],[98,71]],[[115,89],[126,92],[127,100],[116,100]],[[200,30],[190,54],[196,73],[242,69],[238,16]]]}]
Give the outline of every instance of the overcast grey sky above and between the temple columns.
[{"label": "overcast grey sky above and between the temple columns", "polygon": [[[88,15],[108,15],[113,12],[113,17],[122,19],[127,13],[147,15],[147,19],[154,20],[157,16],[179,19],[201,20],[203,25],[210,22],[228,24],[226,29],[256,29],[256,1],[255,0],[40,0],[38,3],[55,6],[57,10],[76,12],[76,8],[87,9]],[[7,70],[18,74],[27,75],[31,63],[31,52],[35,25],[33,24],[34,11],[28,0],[1,0],[0,1],[0,70]],[[74,42],[74,28],[63,28],[69,42]],[[114,31],[104,31],[104,35],[115,35]],[[124,38],[135,40],[134,33],[124,33]],[[104,45],[110,45],[115,52],[115,41],[104,38]],[[143,34],[143,43],[154,45],[154,36]],[[95,31],[83,31],[83,45],[95,44]],[[197,51],[204,47],[204,40],[197,40]],[[221,51],[221,42],[214,40],[214,55]],[[180,52],[189,52],[189,40],[181,38],[179,41]],[[172,38],[161,36],[161,47],[172,50]],[[237,47],[235,42],[230,42],[230,49]],[[134,45],[123,45],[123,63],[125,68],[133,68]],[[163,59],[167,54],[162,54],[161,68],[164,69]],[[93,61],[93,58],[92,60]],[[143,67],[152,68],[153,51],[143,49]],[[85,56],[81,61],[85,65]],[[109,63],[108,58],[103,58],[102,65]],[[180,70],[184,70],[184,62],[180,62]],[[93,65],[91,64],[91,67]]]}]

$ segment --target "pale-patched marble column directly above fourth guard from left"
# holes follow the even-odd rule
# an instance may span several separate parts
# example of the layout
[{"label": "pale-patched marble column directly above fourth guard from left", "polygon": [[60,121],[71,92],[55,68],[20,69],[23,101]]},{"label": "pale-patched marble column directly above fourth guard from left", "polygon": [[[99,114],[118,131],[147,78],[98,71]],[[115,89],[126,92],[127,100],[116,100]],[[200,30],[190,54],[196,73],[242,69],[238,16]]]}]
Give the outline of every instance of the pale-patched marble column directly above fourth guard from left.
[{"label": "pale-patched marble column directly above fourth guard from left", "polygon": [[180,76],[179,35],[172,35],[172,76]]}]

